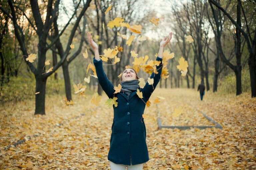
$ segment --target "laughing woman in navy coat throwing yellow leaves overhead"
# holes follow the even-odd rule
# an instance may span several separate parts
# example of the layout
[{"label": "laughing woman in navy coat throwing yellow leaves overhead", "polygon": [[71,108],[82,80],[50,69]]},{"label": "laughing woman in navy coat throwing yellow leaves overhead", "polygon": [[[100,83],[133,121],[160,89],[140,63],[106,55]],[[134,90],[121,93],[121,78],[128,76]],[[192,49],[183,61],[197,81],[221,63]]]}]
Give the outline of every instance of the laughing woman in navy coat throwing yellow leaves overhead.
[{"label": "laughing woman in navy coat throwing yellow leaves overhead", "polygon": [[[111,170],[141,170],[143,163],[149,160],[146,144],[146,127],[142,114],[144,113],[146,102],[158,84],[162,72],[162,57],[164,46],[172,39],[172,32],[160,42],[157,61],[161,61],[156,66],[158,74],[154,72],[150,78],[154,79],[153,86],[148,82],[143,88],[139,87],[139,78],[135,70],[127,68],[121,77],[121,91],[115,93],[113,84],[107,78],[102,60],[99,57],[98,45],[92,40],[90,33],[87,34],[90,45],[94,50],[93,63],[99,84],[108,98],[117,97],[118,105],[114,109],[114,119],[111,127],[110,148],[108,160]],[[136,94],[137,89],[142,92],[142,100]]]}]

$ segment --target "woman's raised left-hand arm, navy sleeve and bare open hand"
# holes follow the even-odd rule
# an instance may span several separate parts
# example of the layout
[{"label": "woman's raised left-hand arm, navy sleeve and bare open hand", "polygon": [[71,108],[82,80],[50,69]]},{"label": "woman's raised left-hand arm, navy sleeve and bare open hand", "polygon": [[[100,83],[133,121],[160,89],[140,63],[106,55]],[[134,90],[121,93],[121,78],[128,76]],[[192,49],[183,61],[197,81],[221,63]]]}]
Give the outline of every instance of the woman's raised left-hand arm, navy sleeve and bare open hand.
[{"label": "woman's raised left-hand arm, navy sleeve and bare open hand", "polygon": [[100,59],[100,56],[99,56],[98,45],[96,42],[94,42],[92,40],[90,33],[87,33],[87,37],[88,37],[89,43],[92,46],[93,51],[94,51],[95,57],[93,57],[93,64],[95,66],[99,84],[102,87],[102,89],[104,90],[104,92],[107,94],[108,98],[113,98],[114,92],[115,92],[114,86],[109,81],[109,79],[106,76],[106,73],[104,72],[103,65],[102,65],[102,59]]}]

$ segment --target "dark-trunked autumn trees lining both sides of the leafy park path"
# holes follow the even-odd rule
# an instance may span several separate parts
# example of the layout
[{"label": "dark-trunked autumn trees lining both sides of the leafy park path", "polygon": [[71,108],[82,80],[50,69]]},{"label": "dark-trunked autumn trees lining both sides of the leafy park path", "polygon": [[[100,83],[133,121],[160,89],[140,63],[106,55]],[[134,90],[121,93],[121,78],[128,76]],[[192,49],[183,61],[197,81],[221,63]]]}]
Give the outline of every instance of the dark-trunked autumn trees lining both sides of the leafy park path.
[{"label": "dark-trunked autumn trees lining both sides of the leafy park path", "polygon": [[[36,79],[35,92],[40,91],[35,97],[35,114],[45,114],[47,78],[51,74],[57,78],[56,70],[62,66],[66,97],[70,101],[72,99],[70,63],[81,54],[81,51],[85,50],[85,47],[89,54],[94,54],[85,37],[86,32],[92,32],[93,39],[99,44],[100,54],[103,54],[103,50],[107,48],[119,45],[123,47],[123,51],[118,53],[118,57],[121,58],[120,62],[113,65],[108,61],[106,64],[107,76],[116,85],[117,76],[132,61],[131,50],[135,50],[140,56],[148,53],[154,54],[158,51],[159,42],[157,41],[148,40],[143,42],[143,45],[134,42],[128,46],[125,44],[126,40],[118,36],[118,33],[131,35],[126,27],[114,27],[113,29],[106,27],[109,21],[121,17],[130,25],[141,25],[142,35],[145,34],[152,28],[149,19],[155,17],[156,13],[143,4],[145,2],[138,0],[94,0],[92,2],[91,0],[86,2],[78,0],[73,1],[72,15],[66,19],[60,17],[60,11],[68,14],[70,10],[60,0],[49,0],[43,3],[36,0],[1,2],[1,86],[8,82],[10,76],[17,76],[21,63],[26,62],[27,71],[31,71]],[[169,2],[168,5],[172,9],[171,13],[168,11],[170,17],[163,20],[173,23],[172,29],[177,40],[172,43],[172,46],[169,46],[169,49],[175,54],[176,51],[179,51],[177,53],[183,55],[190,63],[185,77],[188,88],[191,86],[190,79],[192,88],[195,88],[196,66],[198,65],[200,79],[205,79],[206,89],[210,89],[209,67],[212,63],[212,56],[214,56],[214,92],[217,91],[219,75],[228,66],[236,75],[236,94],[241,94],[243,65],[241,61],[247,60],[250,70],[251,94],[252,97],[256,96],[256,22],[253,8],[255,4],[255,1],[242,3],[240,0],[228,0],[222,4],[217,0],[187,0],[187,2],[180,1],[175,4]],[[112,9],[105,14],[110,5],[112,5]],[[63,26],[60,23],[61,19],[67,21]],[[193,43],[186,43],[187,35],[193,36]],[[35,40],[37,41],[36,45],[33,43]],[[72,43],[76,44],[75,51],[71,50]],[[25,60],[32,51],[37,52],[37,66]],[[246,53],[249,55],[248,59]],[[52,56],[53,69],[45,73],[45,61],[49,54]],[[21,55],[23,61],[20,60]],[[88,59],[91,60],[90,57]],[[88,62],[90,62],[89,60]],[[175,69],[173,60],[168,63],[167,68],[170,68],[168,79],[171,82],[171,87],[173,87],[173,79],[175,86],[179,87],[180,73]],[[166,83],[167,79],[165,86],[167,86]],[[98,86],[98,93],[102,93],[100,86]]]}]

